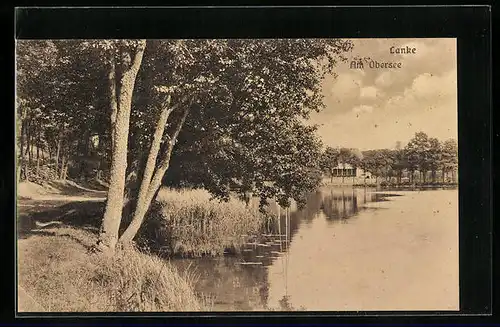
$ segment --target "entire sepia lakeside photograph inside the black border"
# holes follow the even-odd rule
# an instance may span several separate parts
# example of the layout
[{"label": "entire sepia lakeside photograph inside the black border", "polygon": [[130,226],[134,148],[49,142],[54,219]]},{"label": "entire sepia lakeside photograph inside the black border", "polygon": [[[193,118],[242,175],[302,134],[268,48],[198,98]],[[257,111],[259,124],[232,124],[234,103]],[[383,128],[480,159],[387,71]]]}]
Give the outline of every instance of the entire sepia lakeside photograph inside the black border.
[{"label": "entire sepia lakeside photograph inside the black border", "polygon": [[15,51],[18,312],[459,311],[455,38]]}]

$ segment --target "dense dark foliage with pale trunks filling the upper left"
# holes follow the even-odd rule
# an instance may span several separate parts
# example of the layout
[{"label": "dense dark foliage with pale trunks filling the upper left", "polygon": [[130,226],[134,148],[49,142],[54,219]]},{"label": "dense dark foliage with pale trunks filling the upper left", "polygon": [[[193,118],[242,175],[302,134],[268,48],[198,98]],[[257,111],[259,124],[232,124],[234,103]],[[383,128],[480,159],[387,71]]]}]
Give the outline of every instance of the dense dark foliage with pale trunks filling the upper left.
[{"label": "dense dark foliage with pale trunks filling the upper left", "polygon": [[[129,241],[171,166],[180,173],[166,181],[221,199],[232,191],[262,205],[301,202],[319,183],[321,147],[303,120],[323,107],[321,81],[352,43],[75,40],[20,41],[17,49],[20,147],[57,143],[49,163],[61,171],[96,148],[97,170],[110,182],[101,232],[114,248],[121,203],[135,207],[122,235]],[[44,119],[37,130],[25,126],[32,116]]]}]

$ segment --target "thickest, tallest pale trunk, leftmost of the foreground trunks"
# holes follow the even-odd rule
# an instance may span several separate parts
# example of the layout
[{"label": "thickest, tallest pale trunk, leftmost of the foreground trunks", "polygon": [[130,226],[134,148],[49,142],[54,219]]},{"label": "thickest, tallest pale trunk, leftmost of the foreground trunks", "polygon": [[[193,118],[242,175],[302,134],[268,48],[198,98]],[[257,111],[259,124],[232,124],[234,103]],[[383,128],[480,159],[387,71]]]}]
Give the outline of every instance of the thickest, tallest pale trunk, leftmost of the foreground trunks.
[{"label": "thickest, tallest pale trunk, leftmost of the foreground trunks", "polygon": [[[99,248],[110,253],[113,253],[115,250],[122,218],[132,95],[145,48],[146,40],[141,40],[132,56],[131,66],[123,70],[120,76],[117,111],[111,133],[113,151],[111,157],[110,185],[98,240]],[[113,79],[117,80],[116,75],[110,79],[111,82]],[[111,115],[113,124],[113,111]]]}]

